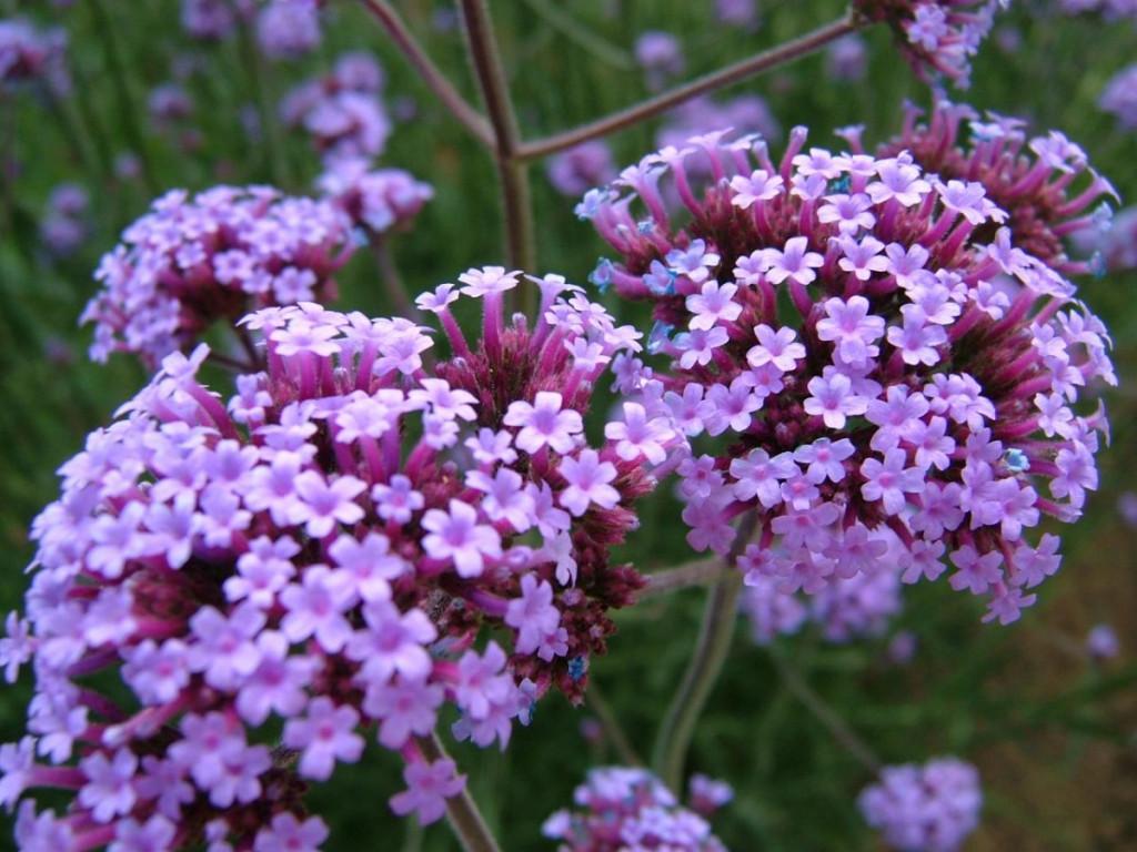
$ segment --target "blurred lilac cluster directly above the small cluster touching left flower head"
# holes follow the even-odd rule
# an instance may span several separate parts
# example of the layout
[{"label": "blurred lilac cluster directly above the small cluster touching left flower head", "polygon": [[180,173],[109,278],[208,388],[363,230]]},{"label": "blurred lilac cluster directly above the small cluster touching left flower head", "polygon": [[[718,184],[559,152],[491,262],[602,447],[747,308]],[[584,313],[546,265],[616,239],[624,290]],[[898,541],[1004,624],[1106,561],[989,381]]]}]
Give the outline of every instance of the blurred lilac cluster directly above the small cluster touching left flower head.
[{"label": "blurred lilac cluster directly above the small cluster touching left flower head", "polygon": [[379,99],[383,72],[366,53],[345,53],[331,73],[302,83],[281,102],[283,122],[302,128],[326,160],[383,152],[391,122]]}]

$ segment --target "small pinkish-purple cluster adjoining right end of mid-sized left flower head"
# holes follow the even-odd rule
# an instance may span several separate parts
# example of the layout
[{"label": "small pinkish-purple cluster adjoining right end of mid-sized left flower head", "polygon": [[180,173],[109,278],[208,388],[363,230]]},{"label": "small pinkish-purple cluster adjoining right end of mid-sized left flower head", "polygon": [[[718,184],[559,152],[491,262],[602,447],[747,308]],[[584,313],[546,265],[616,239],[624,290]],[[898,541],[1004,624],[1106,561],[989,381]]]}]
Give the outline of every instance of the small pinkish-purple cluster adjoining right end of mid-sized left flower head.
[{"label": "small pinkish-purple cluster adjoining right end of mid-sized left flower head", "polygon": [[371,235],[408,227],[434,198],[434,189],[416,181],[409,172],[371,169],[366,160],[354,158],[332,160],[318,186],[355,227]]}]

